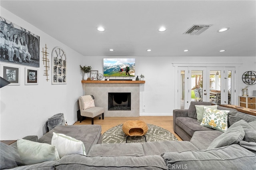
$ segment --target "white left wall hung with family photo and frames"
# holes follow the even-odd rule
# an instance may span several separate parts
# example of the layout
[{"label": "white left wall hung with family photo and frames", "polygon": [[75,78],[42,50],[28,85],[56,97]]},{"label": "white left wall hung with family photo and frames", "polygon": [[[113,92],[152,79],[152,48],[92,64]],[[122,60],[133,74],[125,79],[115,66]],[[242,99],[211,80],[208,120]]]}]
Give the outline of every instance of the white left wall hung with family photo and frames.
[{"label": "white left wall hung with family photo and frames", "polygon": [[[1,16],[40,36],[40,68],[38,85],[24,85],[24,66],[14,65],[21,68],[20,85],[8,85],[0,89],[0,139],[16,140],[26,135],[40,137],[44,133],[45,122],[56,113],[64,113],[68,124],[72,125],[77,120],[78,97],[83,93],[80,83],[82,72],[79,67],[83,56],[4,8],[1,8]],[[54,47],[62,47],[65,50],[67,56],[66,85],[52,85],[51,81],[46,81],[46,76],[43,75],[44,65],[41,52],[45,44],[50,53],[48,56],[50,60]]]}]

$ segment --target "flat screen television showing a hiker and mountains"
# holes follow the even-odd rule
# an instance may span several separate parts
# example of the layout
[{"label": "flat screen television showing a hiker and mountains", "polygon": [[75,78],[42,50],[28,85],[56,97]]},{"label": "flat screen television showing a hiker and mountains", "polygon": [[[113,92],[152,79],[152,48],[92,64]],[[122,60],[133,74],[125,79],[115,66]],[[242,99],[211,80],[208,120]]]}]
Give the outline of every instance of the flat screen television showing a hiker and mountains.
[{"label": "flat screen television showing a hiker and mountains", "polygon": [[105,77],[134,77],[135,58],[104,58],[103,75]]}]

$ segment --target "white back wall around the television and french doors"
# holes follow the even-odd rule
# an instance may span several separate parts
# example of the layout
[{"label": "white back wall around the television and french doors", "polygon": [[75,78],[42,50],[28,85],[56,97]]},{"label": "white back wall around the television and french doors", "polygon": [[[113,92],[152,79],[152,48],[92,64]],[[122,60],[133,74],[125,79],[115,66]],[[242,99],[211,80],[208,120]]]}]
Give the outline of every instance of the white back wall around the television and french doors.
[{"label": "white back wall around the television and french doors", "polygon": [[[141,73],[145,75],[146,83],[140,85],[141,116],[170,116],[172,111],[177,109],[174,107],[175,68],[172,63],[216,63],[216,66],[218,66],[218,63],[242,64],[237,71],[236,101],[238,101],[238,95],[242,95],[242,88],[246,86],[242,82],[242,74],[245,71],[256,71],[256,57],[127,57],[135,58],[136,76]],[[106,58],[106,56],[93,57],[93,60],[90,60],[91,58],[89,56],[85,57],[84,63],[87,61],[86,65],[91,65],[93,70],[102,73],[103,58]],[[256,84],[248,88],[249,95],[252,95],[252,90],[256,90]],[[142,112],[144,105],[145,112]]]}]

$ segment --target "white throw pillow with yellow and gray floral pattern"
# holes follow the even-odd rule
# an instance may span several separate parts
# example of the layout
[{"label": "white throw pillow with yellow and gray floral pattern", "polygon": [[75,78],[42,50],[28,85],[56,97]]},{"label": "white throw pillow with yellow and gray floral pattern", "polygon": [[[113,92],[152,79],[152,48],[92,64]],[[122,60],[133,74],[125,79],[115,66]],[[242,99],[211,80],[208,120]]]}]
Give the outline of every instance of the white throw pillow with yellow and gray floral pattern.
[{"label": "white throw pillow with yellow and gray floral pattern", "polygon": [[225,132],[228,130],[228,112],[229,111],[221,111],[218,109],[210,109],[208,107],[204,107],[204,116],[202,119],[202,123],[200,125],[214,128],[216,130],[220,130]]}]

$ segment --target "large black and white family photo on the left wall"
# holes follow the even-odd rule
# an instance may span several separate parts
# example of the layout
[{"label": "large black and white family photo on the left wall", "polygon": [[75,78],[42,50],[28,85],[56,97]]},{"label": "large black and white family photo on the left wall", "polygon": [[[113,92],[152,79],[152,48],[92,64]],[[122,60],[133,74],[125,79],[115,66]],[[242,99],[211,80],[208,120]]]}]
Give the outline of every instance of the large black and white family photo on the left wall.
[{"label": "large black and white family photo on the left wall", "polygon": [[39,67],[40,37],[0,17],[0,61]]}]

